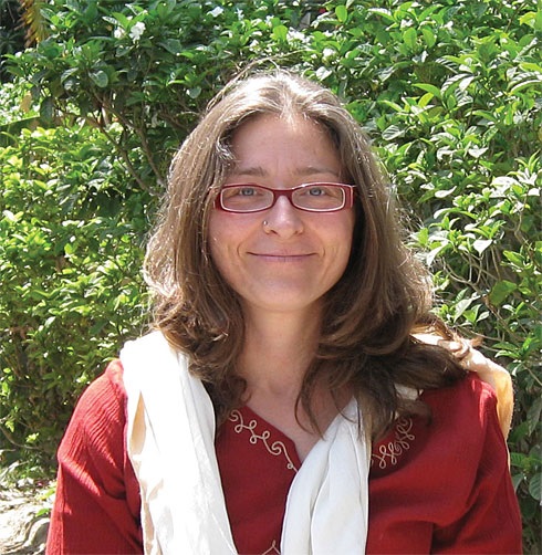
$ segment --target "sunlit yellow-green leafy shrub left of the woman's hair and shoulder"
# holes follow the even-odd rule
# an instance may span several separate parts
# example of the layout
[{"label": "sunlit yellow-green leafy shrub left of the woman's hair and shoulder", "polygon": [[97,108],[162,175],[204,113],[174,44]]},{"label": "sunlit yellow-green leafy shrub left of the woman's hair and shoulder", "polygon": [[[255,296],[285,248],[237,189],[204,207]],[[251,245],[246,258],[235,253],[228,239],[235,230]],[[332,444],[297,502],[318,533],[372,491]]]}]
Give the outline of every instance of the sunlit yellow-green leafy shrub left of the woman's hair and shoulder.
[{"label": "sunlit yellow-green leafy shrub left of the woman's hair and shoulder", "polygon": [[148,199],[108,150],[84,126],[0,148],[0,423],[51,462],[82,387],[145,318]]}]

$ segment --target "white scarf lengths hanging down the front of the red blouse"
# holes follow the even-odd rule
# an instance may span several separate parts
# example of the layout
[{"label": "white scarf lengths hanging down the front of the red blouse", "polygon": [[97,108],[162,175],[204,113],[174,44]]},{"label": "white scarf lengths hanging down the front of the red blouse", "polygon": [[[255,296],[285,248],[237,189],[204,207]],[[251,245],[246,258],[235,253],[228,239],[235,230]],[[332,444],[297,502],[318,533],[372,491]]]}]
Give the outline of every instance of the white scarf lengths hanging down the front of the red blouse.
[{"label": "white scarf lengths hanging down the front of the red blouse", "polygon": [[[128,342],[121,360],[145,554],[237,554],[215,452],[215,412],[201,381],[159,332]],[[352,401],[347,418],[335,418],[295,475],[283,555],[365,552],[371,449],[359,437],[357,412]]]}]

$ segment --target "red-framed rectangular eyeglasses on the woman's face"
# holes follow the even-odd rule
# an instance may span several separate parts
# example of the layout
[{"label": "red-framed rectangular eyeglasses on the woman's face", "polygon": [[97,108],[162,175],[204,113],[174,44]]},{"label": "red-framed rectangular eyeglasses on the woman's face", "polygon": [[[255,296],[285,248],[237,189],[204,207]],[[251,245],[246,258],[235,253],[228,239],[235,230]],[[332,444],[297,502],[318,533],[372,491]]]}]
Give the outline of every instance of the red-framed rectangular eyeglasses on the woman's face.
[{"label": "red-framed rectangular eyeglasses on the woman's face", "polygon": [[354,185],[303,184],[291,189],[270,189],[261,185],[236,184],[222,186],[215,207],[236,213],[268,210],[279,197],[286,197],[291,205],[308,212],[336,212],[352,208]]}]

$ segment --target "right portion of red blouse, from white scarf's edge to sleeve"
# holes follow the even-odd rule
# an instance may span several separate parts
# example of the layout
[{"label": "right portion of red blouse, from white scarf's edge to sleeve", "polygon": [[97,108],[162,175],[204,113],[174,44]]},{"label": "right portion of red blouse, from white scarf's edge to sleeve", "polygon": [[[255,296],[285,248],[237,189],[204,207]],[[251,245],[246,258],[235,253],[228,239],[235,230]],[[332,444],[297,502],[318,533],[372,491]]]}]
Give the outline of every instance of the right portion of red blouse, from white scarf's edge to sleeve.
[{"label": "right portion of red blouse, from white scarf's edge to sleeve", "polygon": [[521,553],[492,389],[469,376],[421,399],[431,419],[402,419],[373,448],[367,553]]}]

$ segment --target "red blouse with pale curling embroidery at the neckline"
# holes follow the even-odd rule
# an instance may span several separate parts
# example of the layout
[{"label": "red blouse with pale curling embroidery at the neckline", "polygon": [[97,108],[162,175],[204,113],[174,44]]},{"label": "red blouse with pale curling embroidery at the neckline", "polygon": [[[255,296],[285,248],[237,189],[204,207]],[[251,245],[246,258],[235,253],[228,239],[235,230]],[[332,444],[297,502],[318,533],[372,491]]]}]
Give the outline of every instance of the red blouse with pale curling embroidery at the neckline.
[{"label": "red blouse with pale curling embroidery at the neckline", "polygon": [[[366,553],[521,553],[492,390],[470,376],[423,400],[429,422],[400,419],[373,446]],[[143,553],[125,427],[115,362],[82,396],[59,449],[48,554]],[[239,553],[280,553],[285,500],[301,465],[293,442],[243,407],[221,427],[216,448]]]}]

